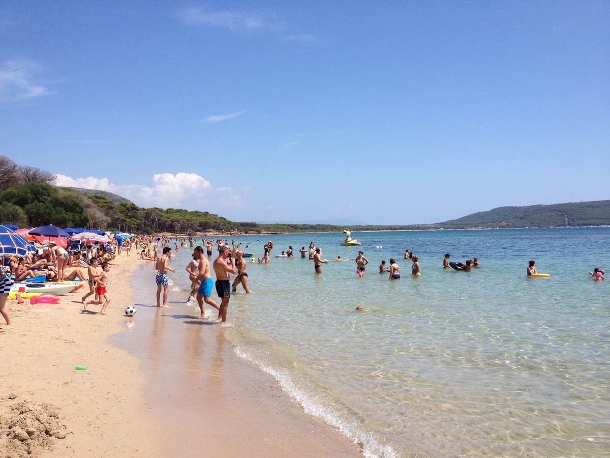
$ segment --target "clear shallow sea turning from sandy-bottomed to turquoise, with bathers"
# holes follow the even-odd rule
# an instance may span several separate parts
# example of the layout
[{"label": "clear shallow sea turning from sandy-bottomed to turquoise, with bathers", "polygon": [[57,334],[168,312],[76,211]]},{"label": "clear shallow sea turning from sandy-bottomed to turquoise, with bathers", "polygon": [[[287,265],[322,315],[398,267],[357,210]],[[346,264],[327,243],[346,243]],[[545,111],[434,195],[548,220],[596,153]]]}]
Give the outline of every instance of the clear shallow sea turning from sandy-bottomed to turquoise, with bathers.
[{"label": "clear shallow sea turning from sandy-bottomed to turquoise, with bathers", "polygon": [[[610,228],[353,236],[370,260],[362,278],[342,234],[235,238],[255,257],[275,244],[269,264],[248,264],[253,293],[239,286],[231,298],[226,335],[240,356],[366,456],[610,453],[610,279],[587,274],[608,271]],[[351,261],[315,274],[298,253],[311,241],[323,258]],[[273,257],[289,245],[294,258]],[[188,294],[190,253],[174,256],[176,299]],[[445,270],[445,253],[483,266]],[[390,257],[400,280],[378,273]],[[526,277],[528,260],[550,277]]]}]

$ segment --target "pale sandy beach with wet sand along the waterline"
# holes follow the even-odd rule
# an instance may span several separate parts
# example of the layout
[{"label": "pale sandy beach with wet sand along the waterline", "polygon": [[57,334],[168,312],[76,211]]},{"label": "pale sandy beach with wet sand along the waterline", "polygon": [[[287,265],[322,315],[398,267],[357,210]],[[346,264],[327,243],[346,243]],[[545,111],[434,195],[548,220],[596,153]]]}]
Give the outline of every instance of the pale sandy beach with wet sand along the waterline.
[{"label": "pale sandy beach with wet sand along the waterline", "polygon": [[[2,456],[361,456],[359,446],[235,355],[220,325],[192,326],[197,348],[210,352],[203,378],[146,371],[159,361],[136,357],[126,347],[133,340],[121,336],[129,321],[138,322],[138,315],[124,316],[134,303],[132,274],[152,272],[152,263],[125,255],[116,262],[108,316],[96,313],[100,306],[82,310],[86,285],[60,304],[7,303],[15,329],[0,333]],[[146,305],[140,316],[171,320],[172,309]],[[119,347],[109,343],[115,334]],[[162,347],[162,338],[151,341]],[[171,361],[161,363],[171,369]]]}]

